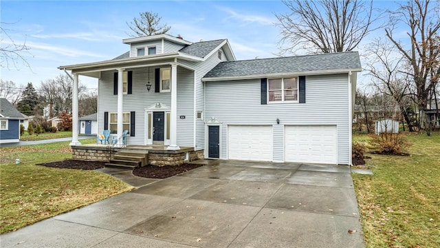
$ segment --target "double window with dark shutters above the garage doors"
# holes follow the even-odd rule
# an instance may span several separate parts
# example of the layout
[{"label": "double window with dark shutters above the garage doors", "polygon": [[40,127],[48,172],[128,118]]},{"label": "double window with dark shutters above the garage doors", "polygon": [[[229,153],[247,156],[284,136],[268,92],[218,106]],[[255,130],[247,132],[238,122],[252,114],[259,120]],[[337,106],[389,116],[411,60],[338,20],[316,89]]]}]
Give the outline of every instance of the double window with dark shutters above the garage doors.
[{"label": "double window with dark shutters above the garage doors", "polygon": [[268,80],[269,102],[298,101],[298,78],[281,78]]}]

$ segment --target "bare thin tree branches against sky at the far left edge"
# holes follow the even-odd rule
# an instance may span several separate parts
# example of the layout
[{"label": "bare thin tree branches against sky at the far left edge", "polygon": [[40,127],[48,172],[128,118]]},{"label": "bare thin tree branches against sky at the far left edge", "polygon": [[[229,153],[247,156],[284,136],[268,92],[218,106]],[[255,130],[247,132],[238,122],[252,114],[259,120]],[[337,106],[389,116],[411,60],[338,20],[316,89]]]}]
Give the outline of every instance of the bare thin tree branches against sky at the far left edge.
[{"label": "bare thin tree branches against sky at the far left edge", "polygon": [[25,58],[25,54],[30,54],[30,48],[26,45],[26,41],[23,43],[16,43],[12,37],[8,34],[8,29],[5,25],[11,25],[14,23],[0,22],[0,67],[2,68],[18,68],[18,63],[23,63],[26,67],[30,68],[28,60]]}]

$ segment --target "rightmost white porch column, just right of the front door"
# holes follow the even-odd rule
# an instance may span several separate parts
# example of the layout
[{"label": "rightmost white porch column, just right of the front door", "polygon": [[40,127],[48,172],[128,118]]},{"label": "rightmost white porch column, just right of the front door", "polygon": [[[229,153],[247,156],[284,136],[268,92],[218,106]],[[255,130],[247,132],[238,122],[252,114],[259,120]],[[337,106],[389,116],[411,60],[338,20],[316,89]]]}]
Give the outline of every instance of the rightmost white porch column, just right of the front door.
[{"label": "rightmost white porch column, just right of the front door", "polygon": [[170,145],[167,149],[177,150],[177,64],[171,64],[171,111],[170,111]]}]

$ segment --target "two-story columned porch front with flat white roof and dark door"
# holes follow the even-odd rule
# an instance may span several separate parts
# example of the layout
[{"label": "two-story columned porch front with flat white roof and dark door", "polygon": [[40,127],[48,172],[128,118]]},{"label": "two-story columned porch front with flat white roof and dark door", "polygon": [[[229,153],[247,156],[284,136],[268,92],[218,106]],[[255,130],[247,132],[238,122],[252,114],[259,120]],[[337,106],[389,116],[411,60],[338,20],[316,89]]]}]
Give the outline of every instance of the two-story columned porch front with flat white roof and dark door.
[{"label": "two-story columned porch front with flat white roof and dark door", "polygon": [[[91,76],[99,82],[98,134],[111,130],[111,136],[118,138],[128,130],[131,145],[161,145],[171,151],[178,151],[181,146],[195,147],[194,105],[177,113],[177,105],[181,103],[178,94],[179,101],[194,102],[193,91],[188,89],[194,88],[195,72],[186,63],[179,63],[177,57],[151,56],[61,67],[74,75],[70,145],[82,145],[78,141],[78,78]],[[166,75],[168,78],[164,79]],[[178,130],[188,132],[179,143]]]}]

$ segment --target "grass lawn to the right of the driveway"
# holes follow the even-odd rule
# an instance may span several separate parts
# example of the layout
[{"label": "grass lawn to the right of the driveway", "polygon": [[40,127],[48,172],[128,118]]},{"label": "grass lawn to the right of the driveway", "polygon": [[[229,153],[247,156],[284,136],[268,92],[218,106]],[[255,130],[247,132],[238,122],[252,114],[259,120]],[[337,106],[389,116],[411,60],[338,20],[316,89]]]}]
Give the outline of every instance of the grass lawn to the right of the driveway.
[{"label": "grass lawn to the right of the driveway", "polygon": [[411,156],[367,154],[374,175],[353,174],[366,247],[440,247],[440,133],[408,141]]}]

